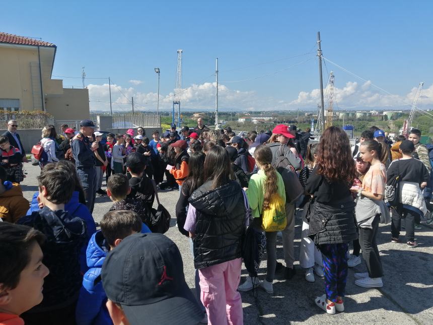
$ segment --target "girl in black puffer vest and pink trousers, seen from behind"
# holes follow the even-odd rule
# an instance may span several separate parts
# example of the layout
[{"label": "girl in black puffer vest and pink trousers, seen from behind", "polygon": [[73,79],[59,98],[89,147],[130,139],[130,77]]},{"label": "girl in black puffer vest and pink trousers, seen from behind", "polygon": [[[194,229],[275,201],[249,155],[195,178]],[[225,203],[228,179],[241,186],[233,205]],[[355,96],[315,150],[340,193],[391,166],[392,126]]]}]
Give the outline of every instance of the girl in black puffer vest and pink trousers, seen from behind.
[{"label": "girl in black puffer vest and pink trousers, seen from behind", "polygon": [[241,277],[241,242],[248,223],[246,194],[230,180],[230,159],[221,146],[204,161],[203,185],[189,198],[184,229],[193,238],[194,267],[200,277],[201,302],[209,323],[243,323],[236,290]]}]

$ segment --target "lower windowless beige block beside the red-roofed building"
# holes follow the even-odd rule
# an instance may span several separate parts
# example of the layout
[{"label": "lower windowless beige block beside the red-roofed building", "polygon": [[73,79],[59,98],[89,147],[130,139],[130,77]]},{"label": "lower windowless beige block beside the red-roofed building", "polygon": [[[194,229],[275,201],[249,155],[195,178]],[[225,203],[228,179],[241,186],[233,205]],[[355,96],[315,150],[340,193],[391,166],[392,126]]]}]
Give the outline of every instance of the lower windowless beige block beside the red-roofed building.
[{"label": "lower windowless beige block beside the red-roofed building", "polygon": [[45,99],[48,113],[56,120],[83,120],[90,116],[89,90],[63,88],[63,95]]}]

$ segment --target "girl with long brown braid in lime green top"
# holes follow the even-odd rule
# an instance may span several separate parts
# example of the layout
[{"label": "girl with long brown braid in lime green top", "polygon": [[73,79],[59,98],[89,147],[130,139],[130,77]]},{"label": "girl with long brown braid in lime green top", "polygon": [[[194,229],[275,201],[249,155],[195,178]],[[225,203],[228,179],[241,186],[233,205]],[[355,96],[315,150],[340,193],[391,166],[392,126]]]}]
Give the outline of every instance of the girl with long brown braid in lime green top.
[{"label": "girl with long brown braid in lime green top", "polygon": [[[279,196],[285,202],[284,183],[281,175],[271,165],[272,152],[265,145],[257,146],[254,157],[259,171],[250,178],[247,197],[254,218],[253,223],[259,221],[263,211],[269,209],[274,196]],[[276,231],[266,231],[267,273],[266,280],[260,282],[260,287],[268,293],[273,293],[272,281],[276,267]],[[253,289],[257,279],[248,276],[246,281],[238,287],[239,291]]]}]

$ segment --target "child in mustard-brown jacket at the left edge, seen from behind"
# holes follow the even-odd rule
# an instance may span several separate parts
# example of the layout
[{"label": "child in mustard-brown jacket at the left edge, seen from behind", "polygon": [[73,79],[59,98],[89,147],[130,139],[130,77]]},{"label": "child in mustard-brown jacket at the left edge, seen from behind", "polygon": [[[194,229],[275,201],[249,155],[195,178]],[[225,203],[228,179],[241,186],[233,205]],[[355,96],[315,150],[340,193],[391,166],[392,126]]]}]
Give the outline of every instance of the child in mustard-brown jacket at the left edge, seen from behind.
[{"label": "child in mustard-brown jacket at the left edge, seen from behind", "polygon": [[5,168],[0,167],[0,218],[15,223],[26,215],[30,205],[23,197],[21,186],[6,179]]}]

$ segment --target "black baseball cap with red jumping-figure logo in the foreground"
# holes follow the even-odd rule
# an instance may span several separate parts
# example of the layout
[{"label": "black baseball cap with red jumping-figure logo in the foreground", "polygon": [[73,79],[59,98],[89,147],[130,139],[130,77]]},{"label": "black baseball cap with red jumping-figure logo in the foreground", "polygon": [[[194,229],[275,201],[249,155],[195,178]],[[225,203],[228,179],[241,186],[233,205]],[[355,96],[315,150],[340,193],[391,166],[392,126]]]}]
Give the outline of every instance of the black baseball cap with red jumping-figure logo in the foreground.
[{"label": "black baseball cap with red jumping-figure logo in the foreground", "polygon": [[131,325],[196,324],[204,313],[185,282],[182,257],[163,234],[133,234],[107,254],[101,272],[108,299]]}]

